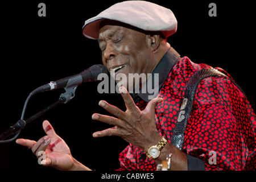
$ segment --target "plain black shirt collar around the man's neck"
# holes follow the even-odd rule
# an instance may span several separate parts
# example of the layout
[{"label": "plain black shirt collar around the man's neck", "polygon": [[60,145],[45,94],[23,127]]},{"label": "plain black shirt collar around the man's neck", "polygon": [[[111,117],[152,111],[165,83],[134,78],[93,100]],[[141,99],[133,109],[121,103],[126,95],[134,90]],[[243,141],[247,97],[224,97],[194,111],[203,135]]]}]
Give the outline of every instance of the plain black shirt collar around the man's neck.
[{"label": "plain black shirt collar around the man's neck", "polygon": [[[172,68],[174,67],[174,65],[177,63],[179,59],[180,59],[179,53],[177,53],[175,49],[171,47],[166,52],[166,54],[162,57],[159,63],[156,65],[154,71],[152,72],[152,78],[147,80],[147,83],[142,86],[141,90],[143,90],[144,86],[148,85],[149,81],[151,82],[152,89],[154,89],[154,75],[155,75],[154,73],[158,73],[158,76],[159,76],[158,91],[159,91],[162,88],[167,76],[169,75]],[[148,93],[147,89],[145,89],[146,93],[142,93],[141,90],[139,93],[131,93],[131,96],[133,97],[133,100],[135,103],[141,100],[149,102],[150,101],[149,97],[151,97],[152,99],[158,96],[158,93],[155,95]]]}]

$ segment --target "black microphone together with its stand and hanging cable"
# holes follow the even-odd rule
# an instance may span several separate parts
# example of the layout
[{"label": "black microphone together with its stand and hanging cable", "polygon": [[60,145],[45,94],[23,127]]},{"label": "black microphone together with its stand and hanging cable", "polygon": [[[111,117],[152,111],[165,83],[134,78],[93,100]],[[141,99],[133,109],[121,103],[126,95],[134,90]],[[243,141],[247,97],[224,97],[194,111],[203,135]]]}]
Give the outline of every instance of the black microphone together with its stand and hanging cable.
[{"label": "black microphone together with its stand and hanging cable", "polygon": [[[102,64],[96,64],[88,69],[85,69],[85,71],[83,71],[77,75],[65,77],[65,78],[62,78],[57,81],[51,81],[51,82],[49,82],[49,84],[40,86],[39,88],[33,90],[27,97],[27,100],[23,106],[22,117],[20,118],[20,120],[18,122],[16,122],[13,126],[9,127],[9,129],[7,131],[0,134],[0,144],[8,143],[8,142],[15,140],[18,137],[20,130],[22,130],[26,126],[27,123],[38,118],[40,115],[46,113],[46,111],[52,109],[53,107],[55,107],[61,103],[67,103],[69,100],[71,100],[74,97],[77,85],[80,85],[82,82],[97,81],[98,75],[100,75],[100,73],[108,74],[108,69]],[[27,119],[27,121],[23,120],[28,101],[35,93],[46,92],[48,90],[59,89],[59,88],[65,88],[66,92],[60,95],[60,99],[57,102],[46,107],[39,113],[32,115],[32,117]],[[13,134],[16,134],[13,138],[3,140],[3,139],[6,139],[7,137],[10,137],[10,135],[13,135]]]}]

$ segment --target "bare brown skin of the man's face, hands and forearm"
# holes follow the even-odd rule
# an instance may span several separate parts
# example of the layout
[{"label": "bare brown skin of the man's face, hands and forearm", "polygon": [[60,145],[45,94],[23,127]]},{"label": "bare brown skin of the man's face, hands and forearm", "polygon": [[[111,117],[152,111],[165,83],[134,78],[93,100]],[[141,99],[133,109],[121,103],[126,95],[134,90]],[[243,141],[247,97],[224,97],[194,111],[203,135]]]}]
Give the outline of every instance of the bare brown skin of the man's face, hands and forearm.
[{"label": "bare brown skin of the man's face, hands and forearm", "polygon": [[[170,48],[170,44],[158,34],[146,34],[130,27],[118,26],[118,24],[102,26],[99,30],[98,42],[102,50],[102,63],[109,71],[113,67],[125,65],[120,73],[124,73],[127,77],[128,73],[151,73]],[[156,129],[154,118],[155,107],[163,100],[154,98],[148,102],[144,110],[140,110],[126,88],[129,90],[129,84],[121,86],[119,90],[125,101],[126,111],[106,101],[99,102],[101,107],[115,117],[94,113],[92,119],[114,125],[114,127],[97,131],[93,133],[93,137],[119,136],[147,152],[148,147],[158,144],[162,138]],[[16,143],[31,148],[35,155],[38,151],[46,151],[44,166],[63,170],[90,170],[72,157],[67,144],[56,135],[48,121],[43,122],[43,128],[50,141],[43,137],[38,142],[18,139]],[[172,152],[171,170],[187,170],[185,153],[168,142],[160,156],[154,159],[155,162],[162,163],[170,152]]]}]

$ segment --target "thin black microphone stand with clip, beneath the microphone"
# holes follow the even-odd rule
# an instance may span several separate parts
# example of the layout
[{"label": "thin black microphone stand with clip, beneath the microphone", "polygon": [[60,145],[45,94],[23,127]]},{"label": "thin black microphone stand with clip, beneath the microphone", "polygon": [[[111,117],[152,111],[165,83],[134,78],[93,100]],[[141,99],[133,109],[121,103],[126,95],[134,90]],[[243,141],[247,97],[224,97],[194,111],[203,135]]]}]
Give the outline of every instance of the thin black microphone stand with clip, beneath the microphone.
[{"label": "thin black microphone stand with clip, beneath the microphone", "polygon": [[[8,130],[6,130],[4,133],[2,133],[0,135],[0,144],[1,143],[9,143],[12,142],[13,140],[15,140],[19,133],[20,130],[22,130],[28,123],[30,123],[31,121],[34,121],[36,118],[40,117],[41,115],[43,115],[44,113],[46,113],[48,110],[51,110],[53,107],[56,107],[59,104],[66,104],[68,101],[70,101],[72,98],[75,97],[75,91],[77,89],[77,85],[80,84],[80,80],[76,80],[76,78],[71,78],[69,80],[69,83],[71,84],[67,84],[67,86],[64,88],[65,89],[65,93],[61,93],[60,98],[58,101],[54,102],[53,104],[49,105],[48,107],[44,108],[43,110],[39,111],[38,113],[32,115],[30,118],[23,120],[23,119],[19,119],[18,122],[16,122],[13,126],[10,126]],[[11,135],[16,134],[13,138],[9,139],[9,140],[5,140],[6,138],[10,137]]]}]

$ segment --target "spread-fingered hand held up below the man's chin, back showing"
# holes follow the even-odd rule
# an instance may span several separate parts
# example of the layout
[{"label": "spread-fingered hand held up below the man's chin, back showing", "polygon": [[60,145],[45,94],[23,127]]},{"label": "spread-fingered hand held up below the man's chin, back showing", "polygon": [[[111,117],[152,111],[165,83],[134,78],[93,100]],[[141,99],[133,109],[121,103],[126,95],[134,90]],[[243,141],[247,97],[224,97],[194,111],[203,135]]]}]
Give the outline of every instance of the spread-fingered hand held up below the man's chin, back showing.
[{"label": "spread-fingered hand held up below the man's chin, back showing", "polygon": [[115,127],[97,131],[93,133],[93,137],[119,136],[143,150],[146,150],[152,144],[158,143],[161,137],[155,125],[155,107],[163,99],[154,98],[141,111],[135,105],[133,98],[131,98],[125,87],[121,86],[119,91],[125,101],[127,110],[122,111],[106,101],[100,101],[99,105],[115,115],[115,117],[94,113],[92,119],[115,125]]}]

